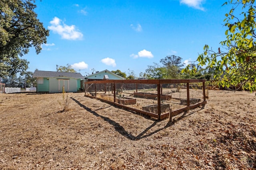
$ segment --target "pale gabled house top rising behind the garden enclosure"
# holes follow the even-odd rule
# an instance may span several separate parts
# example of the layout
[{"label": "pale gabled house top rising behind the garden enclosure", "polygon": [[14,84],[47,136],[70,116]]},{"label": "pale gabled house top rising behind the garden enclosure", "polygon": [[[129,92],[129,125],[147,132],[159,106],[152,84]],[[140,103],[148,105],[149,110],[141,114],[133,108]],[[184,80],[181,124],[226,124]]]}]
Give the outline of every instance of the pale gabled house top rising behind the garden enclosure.
[{"label": "pale gabled house top rising behind the garden enclosure", "polygon": [[[85,76],[85,79],[90,80],[103,80],[103,79],[109,79],[109,80],[125,80],[125,78],[118,76],[117,74],[108,71],[108,70],[103,70],[103,71],[97,71],[96,73],[92,73],[89,76]],[[90,79],[90,80],[89,80]]]}]

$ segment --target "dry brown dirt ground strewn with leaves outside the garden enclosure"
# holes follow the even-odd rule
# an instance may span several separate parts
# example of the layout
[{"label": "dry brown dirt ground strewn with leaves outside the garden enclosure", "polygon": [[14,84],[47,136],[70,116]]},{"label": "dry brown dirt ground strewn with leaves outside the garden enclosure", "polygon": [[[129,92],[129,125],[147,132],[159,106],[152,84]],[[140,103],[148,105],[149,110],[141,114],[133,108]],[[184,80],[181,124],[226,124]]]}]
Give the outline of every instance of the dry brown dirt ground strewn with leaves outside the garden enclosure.
[{"label": "dry brown dirt ground strewn with leaves outside the garden enclosure", "polygon": [[[256,169],[255,92],[157,121],[84,93],[0,94],[0,169]],[[65,100],[64,100],[65,101]]]}]

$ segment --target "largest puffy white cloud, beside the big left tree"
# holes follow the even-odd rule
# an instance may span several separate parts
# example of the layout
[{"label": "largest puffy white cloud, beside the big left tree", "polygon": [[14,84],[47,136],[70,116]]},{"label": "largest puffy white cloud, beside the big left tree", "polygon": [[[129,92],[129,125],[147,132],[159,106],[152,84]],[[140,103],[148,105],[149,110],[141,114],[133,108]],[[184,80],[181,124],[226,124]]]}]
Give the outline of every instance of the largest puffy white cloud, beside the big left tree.
[{"label": "largest puffy white cloud, beside the big left tree", "polygon": [[82,39],[83,34],[76,29],[75,25],[66,25],[64,22],[61,24],[61,20],[58,17],[54,17],[50,21],[50,26],[48,29],[52,30],[54,33],[58,33],[62,39],[76,40]]}]

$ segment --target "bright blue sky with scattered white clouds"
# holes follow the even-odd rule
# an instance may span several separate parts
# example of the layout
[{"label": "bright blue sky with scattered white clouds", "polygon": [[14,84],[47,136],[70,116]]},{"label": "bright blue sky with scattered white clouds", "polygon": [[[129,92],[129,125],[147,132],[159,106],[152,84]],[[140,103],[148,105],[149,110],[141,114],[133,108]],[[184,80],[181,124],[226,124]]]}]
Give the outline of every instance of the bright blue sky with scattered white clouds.
[{"label": "bright blue sky with scattered white clouds", "polygon": [[[28,71],[56,71],[70,64],[82,75],[92,70],[134,71],[168,55],[195,61],[208,44],[220,47],[226,37],[220,0],[42,0],[35,12],[50,30],[36,55],[24,56]],[[128,70],[129,69],[129,70]]]}]

